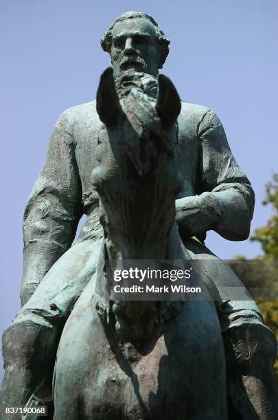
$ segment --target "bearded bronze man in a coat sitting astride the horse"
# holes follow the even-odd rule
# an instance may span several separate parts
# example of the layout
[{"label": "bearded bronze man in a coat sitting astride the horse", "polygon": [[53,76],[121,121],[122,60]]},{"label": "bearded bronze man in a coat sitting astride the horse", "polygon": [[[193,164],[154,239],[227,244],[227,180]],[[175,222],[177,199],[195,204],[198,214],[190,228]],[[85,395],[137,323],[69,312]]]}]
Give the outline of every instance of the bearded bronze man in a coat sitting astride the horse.
[{"label": "bearded bronze man in a coat sitting astride the horse", "polygon": [[[101,40],[116,78],[130,71],[157,76],[169,43],[154,19],[139,12],[119,16]],[[28,200],[23,222],[22,307],[3,334],[2,407],[23,406],[33,394],[51,397],[62,328],[97,268],[102,229],[90,176],[100,124],[95,101],[62,113]],[[253,215],[253,189],[212,110],[182,102],[178,130],[185,181],[183,194],[176,200],[178,229],[192,258],[217,259],[204,244],[206,232],[213,229],[228,240],[245,240]],[[86,222],[72,245],[82,214]],[[217,277],[211,273],[216,286],[219,277],[222,285],[223,279],[227,285],[241,285],[224,263]],[[229,377],[233,410],[241,411],[244,419],[255,419],[256,414],[259,419],[277,419],[274,334],[264,326],[254,301],[227,303],[223,298],[218,315],[233,376]]]}]

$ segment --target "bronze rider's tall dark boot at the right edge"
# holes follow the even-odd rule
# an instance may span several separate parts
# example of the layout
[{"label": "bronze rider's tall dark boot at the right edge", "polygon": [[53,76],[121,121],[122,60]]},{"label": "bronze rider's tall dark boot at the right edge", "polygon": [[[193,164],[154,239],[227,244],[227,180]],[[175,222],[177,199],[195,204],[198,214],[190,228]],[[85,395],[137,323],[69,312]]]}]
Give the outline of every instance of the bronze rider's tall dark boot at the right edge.
[{"label": "bronze rider's tall dark boot at the right edge", "polygon": [[277,340],[265,325],[242,324],[223,334],[231,420],[277,420],[273,364]]}]

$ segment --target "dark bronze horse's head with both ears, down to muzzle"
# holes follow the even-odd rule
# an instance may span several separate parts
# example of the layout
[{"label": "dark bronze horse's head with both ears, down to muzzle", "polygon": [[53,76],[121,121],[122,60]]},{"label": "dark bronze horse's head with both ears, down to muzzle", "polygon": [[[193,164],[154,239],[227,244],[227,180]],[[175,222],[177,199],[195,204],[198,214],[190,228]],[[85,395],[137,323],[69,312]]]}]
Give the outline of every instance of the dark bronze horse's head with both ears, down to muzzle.
[{"label": "dark bronze horse's head with both ears, down to muzzle", "polygon": [[[183,188],[177,165],[181,100],[164,75],[125,75],[106,69],[97,91],[104,123],[92,183],[100,196],[100,221],[110,260],[167,258],[175,198]],[[154,302],[113,303],[117,332],[146,338],[157,317]]]}]

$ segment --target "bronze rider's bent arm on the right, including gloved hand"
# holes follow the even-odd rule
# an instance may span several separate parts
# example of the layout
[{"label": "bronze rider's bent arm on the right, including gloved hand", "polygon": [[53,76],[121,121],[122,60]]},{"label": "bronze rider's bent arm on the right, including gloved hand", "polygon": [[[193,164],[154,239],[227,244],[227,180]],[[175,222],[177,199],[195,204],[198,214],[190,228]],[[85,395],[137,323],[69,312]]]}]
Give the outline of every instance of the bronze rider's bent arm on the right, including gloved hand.
[{"label": "bronze rider's bent arm on the right, including gloved hand", "polygon": [[255,196],[229,148],[224,128],[213,111],[198,126],[199,196],[176,200],[176,218],[185,237],[210,229],[228,240],[246,240]]}]

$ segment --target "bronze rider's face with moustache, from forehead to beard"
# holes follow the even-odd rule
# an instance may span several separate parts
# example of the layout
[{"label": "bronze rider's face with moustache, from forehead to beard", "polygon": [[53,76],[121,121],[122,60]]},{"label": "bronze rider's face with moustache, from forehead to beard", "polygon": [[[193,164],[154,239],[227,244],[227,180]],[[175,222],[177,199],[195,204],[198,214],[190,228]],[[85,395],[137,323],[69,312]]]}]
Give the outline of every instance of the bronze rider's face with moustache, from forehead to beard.
[{"label": "bronze rider's face with moustache, from forehead to beard", "polygon": [[111,62],[116,76],[130,71],[143,71],[157,75],[159,45],[155,27],[148,19],[124,19],[112,30]]}]

